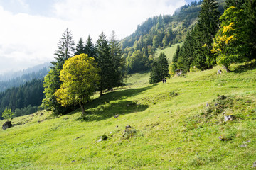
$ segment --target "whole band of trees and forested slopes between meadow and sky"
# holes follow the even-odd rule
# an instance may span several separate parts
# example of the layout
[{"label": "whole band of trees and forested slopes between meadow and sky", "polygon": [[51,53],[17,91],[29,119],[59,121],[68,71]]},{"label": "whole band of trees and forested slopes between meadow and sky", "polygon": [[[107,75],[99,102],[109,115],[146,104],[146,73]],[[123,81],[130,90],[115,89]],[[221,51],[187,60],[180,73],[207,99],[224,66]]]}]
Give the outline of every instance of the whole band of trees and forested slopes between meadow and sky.
[{"label": "whole band of trees and forested slopes between meadow and sky", "polygon": [[[102,96],[105,90],[122,86],[126,74],[149,69],[150,83],[174,76],[176,69],[186,73],[221,64],[229,72],[229,64],[255,59],[255,6],[254,0],[194,1],[179,8],[173,16],[149,18],[121,41],[113,31],[109,40],[102,32],[95,44],[90,35],[75,44],[67,28],[44,80],[34,79],[1,92],[0,109],[11,108],[16,116],[24,115],[34,106],[40,106],[43,99],[42,106],[55,115],[68,113],[78,106],[83,111],[92,92],[100,91]],[[183,45],[177,47],[170,64],[164,53],[154,56],[157,48],[171,47],[177,42]],[[71,60],[74,55],[76,60]],[[78,63],[78,67],[73,67],[74,63]],[[85,74],[97,74],[100,78],[81,77],[79,69],[86,69]]]}]

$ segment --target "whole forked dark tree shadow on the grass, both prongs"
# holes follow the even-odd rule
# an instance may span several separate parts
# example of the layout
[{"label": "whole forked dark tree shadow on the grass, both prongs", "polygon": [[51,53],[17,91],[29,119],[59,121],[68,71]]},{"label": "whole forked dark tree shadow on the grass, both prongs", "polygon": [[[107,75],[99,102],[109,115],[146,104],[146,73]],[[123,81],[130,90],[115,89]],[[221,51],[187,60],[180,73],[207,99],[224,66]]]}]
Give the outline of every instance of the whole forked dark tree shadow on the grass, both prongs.
[{"label": "whole forked dark tree shadow on the grass, both prongs", "polygon": [[138,105],[134,101],[118,101],[124,100],[131,96],[141,94],[143,91],[151,89],[153,86],[146,86],[138,89],[125,89],[121,91],[111,91],[99,98],[94,99],[85,105],[85,115],[78,120],[93,121],[111,118],[114,115],[124,115],[144,111],[149,106]]}]

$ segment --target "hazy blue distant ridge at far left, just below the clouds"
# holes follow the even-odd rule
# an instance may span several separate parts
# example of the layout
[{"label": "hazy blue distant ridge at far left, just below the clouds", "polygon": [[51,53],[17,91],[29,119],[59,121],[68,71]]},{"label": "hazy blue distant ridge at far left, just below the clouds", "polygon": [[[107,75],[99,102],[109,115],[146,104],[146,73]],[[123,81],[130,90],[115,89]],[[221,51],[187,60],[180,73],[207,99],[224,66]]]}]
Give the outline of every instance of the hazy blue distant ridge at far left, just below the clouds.
[{"label": "hazy blue distant ridge at far left, just below the clouds", "polygon": [[46,76],[46,74],[48,74],[49,71],[49,67],[43,67],[37,72],[26,73],[20,77],[9,79],[8,81],[0,81],[0,92],[5,91],[11,87],[18,87],[21,84],[25,84],[27,81],[31,81],[32,79],[42,79]]}]

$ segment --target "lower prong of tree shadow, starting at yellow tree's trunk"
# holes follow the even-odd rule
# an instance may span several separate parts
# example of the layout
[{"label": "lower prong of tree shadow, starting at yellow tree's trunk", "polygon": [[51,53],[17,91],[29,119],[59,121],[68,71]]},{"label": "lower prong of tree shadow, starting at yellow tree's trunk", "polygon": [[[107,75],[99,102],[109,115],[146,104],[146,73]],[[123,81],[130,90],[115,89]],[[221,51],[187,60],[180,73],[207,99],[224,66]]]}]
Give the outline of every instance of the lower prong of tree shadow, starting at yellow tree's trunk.
[{"label": "lower prong of tree shadow, starting at yellow tree's trunk", "polygon": [[107,103],[97,108],[89,108],[85,111],[85,115],[81,116],[77,120],[81,121],[100,121],[107,118],[114,117],[114,115],[125,115],[129,113],[135,113],[145,111],[147,105],[138,105],[134,101],[119,101],[117,103]]}]

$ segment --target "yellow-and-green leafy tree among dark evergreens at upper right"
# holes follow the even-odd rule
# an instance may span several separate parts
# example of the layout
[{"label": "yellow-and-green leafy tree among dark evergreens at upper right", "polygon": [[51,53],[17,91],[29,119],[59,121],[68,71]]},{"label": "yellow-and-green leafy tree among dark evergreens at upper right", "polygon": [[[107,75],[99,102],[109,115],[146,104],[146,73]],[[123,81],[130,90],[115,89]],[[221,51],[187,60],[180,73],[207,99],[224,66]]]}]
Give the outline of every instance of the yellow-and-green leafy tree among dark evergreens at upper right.
[{"label": "yellow-and-green leafy tree among dark evergreens at upper right", "polygon": [[248,35],[245,12],[231,6],[220,17],[220,30],[213,40],[212,52],[218,55],[217,64],[230,72],[228,65],[249,59]]}]

